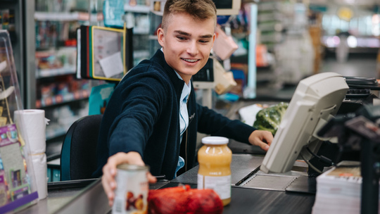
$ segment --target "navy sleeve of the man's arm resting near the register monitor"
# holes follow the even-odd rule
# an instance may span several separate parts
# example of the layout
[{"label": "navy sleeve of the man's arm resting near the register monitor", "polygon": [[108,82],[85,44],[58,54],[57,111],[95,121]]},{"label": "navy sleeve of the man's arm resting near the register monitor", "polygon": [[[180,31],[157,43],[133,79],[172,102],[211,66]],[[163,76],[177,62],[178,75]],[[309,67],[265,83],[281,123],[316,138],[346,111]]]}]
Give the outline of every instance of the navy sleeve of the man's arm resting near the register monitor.
[{"label": "navy sleeve of the man's arm resting near the register monitor", "polygon": [[196,104],[198,113],[198,132],[213,136],[227,137],[249,144],[248,137],[256,129],[239,120],[229,120],[220,113]]}]

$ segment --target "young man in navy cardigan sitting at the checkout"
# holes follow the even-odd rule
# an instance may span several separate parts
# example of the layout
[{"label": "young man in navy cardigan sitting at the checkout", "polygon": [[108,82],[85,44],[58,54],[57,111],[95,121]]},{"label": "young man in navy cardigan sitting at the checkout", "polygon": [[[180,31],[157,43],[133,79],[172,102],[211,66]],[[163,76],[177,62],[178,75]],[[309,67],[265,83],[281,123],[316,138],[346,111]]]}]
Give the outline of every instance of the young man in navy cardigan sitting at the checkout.
[{"label": "young man in navy cardigan sitting at the checkout", "polygon": [[[168,0],[158,42],[163,47],[118,84],[101,123],[98,169],[110,205],[116,166],[149,165],[172,179],[196,161],[196,132],[228,137],[267,151],[270,132],[229,120],[196,103],[191,76],[208,61],[215,41],[212,0]],[[264,142],[266,141],[267,144]],[[155,178],[148,175],[150,182]]]}]

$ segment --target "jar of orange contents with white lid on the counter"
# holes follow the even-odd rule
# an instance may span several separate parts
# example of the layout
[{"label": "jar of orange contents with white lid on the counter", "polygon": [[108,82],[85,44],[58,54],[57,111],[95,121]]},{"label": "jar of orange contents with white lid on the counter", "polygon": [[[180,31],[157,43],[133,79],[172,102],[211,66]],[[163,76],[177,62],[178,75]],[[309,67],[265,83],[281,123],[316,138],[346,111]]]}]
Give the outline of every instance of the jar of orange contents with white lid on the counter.
[{"label": "jar of orange contents with white lid on the counter", "polygon": [[231,202],[232,151],[225,137],[204,137],[198,151],[198,189],[213,189],[223,206]]}]

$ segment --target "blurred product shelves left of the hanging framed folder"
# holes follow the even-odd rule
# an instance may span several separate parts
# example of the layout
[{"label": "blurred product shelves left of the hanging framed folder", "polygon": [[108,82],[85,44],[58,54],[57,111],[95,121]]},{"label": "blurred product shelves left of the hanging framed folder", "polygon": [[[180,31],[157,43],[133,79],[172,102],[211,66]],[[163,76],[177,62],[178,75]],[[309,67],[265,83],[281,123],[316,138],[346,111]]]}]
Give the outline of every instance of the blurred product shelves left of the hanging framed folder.
[{"label": "blurred product shelves left of the hanging framed folder", "polygon": [[[35,78],[33,108],[51,120],[48,144],[64,135],[75,120],[88,115],[89,80],[77,80],[77,28],[103,25],[101,0],[35,0]],[[91,11],[91,12],[89,12]],[[59,179],[59,177],[58,177]]]}]

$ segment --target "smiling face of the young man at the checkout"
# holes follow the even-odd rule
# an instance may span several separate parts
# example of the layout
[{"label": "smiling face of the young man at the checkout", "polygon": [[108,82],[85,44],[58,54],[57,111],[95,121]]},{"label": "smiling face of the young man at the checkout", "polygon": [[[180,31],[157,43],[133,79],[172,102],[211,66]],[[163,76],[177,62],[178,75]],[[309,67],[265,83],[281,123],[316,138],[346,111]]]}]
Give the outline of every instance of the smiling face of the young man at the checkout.
[{"label": "smiling face of the young man at the checkout", "polygon": [[158,42],[163,46],[165,61],[189,83],[208,61],[215,41],[213,18],[194,20],[187,13],[173,14],[167,27],[158,29]]}]

